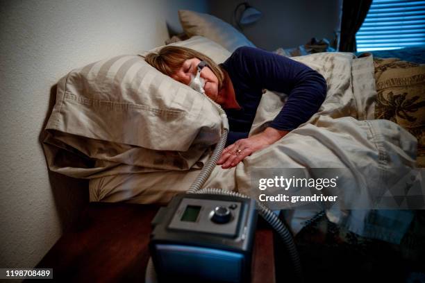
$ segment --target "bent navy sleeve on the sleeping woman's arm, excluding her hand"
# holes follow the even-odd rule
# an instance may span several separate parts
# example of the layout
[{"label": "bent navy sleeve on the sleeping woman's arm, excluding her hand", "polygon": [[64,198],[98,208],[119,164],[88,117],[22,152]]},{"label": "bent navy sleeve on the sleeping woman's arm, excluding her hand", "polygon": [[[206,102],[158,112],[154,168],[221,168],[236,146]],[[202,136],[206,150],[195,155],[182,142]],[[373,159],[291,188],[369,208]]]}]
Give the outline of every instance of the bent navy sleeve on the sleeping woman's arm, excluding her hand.
[{"label": "bent navy sleeve on the sleeping woman's arm, excluding her hand", "polygon": [[[236,52],[236,51],[235,51]],[[277,130],[294,130],[319,110],[326,98],[326,80],[317,71],[290,58],[256,49],[238,49],[249,77],[261,89],[288,94],[281,112],[270,124]]]}]

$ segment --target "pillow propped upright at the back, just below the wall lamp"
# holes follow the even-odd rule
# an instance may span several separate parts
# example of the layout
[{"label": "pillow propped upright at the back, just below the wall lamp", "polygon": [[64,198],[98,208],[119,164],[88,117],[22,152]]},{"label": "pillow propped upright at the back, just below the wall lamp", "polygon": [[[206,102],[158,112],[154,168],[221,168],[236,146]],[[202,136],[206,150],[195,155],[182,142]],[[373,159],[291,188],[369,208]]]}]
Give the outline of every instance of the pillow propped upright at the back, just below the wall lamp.
[{"label": "pillow propped upright at the back, just below the wall lamp", "polygon": [[240,46],[255,47],[236,28],[212,15],[190,10],[178,10],[178,17],[186,34],[207,37],[224,46],[230,52],[235,51]]}]

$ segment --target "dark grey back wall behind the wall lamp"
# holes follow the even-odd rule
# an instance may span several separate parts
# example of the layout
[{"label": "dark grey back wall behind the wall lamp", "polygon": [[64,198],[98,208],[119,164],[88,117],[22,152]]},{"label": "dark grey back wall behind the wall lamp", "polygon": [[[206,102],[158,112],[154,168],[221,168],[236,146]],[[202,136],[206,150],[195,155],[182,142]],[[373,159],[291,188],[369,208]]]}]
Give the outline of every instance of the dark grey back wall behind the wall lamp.
[{"label": "dark grey back wall behind the wall lamp", "polygon": [[[212,15],[233,24],[233,10],[240,0],[210,0]],[[332,40],[339,26],[342,0],[251,0],[249,4],[263,13],[251,26],[243,28],[253,44],[274,51],[305,44],[312,37]],[[241,8],[242,10],[242,8]]]}]

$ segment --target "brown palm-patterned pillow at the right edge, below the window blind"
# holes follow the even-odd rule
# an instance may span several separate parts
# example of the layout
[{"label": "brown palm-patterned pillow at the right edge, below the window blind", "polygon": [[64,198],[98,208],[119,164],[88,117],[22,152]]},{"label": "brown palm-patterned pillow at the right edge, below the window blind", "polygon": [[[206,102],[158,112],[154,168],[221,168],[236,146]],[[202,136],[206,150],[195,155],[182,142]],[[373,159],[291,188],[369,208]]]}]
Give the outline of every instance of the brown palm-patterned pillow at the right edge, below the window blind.
[{"label": "brown palm-patterned pillow at the right edge, below the window blind", "polygon": [[417,138],[417,166],[425,167],[425,65],[374,58],[375,119],[394,121]]}]

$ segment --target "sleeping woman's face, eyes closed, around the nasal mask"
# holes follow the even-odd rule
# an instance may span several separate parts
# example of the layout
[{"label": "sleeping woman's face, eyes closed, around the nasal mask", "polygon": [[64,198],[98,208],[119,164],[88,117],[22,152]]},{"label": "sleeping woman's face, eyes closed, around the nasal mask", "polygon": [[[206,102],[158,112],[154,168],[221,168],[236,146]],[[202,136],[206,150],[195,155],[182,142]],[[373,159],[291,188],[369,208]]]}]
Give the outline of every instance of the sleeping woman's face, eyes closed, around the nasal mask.
[{"label": "sleeping woman's face, eyes closed, around the nasal mask", "polygon": [[[172,78],[174,80],[179,81],[180,83],[184,83],[185,85],[190,84],[190,75],[197,75],[198,64],[201,62],[198,58],[192,58],[185,60],[183,65],[181,65],[180,69],[178,69],[174,74],[172,74]],[[203,89],[205,90],[205,94],[213,99],[213,101],[220,103],[219,99],[219,89],[218,89],[218,79],[217,76],[211,71],[211,69],[207,67],[203,67],[201,70],[201,78],[205,80],[205,85]]]}]

